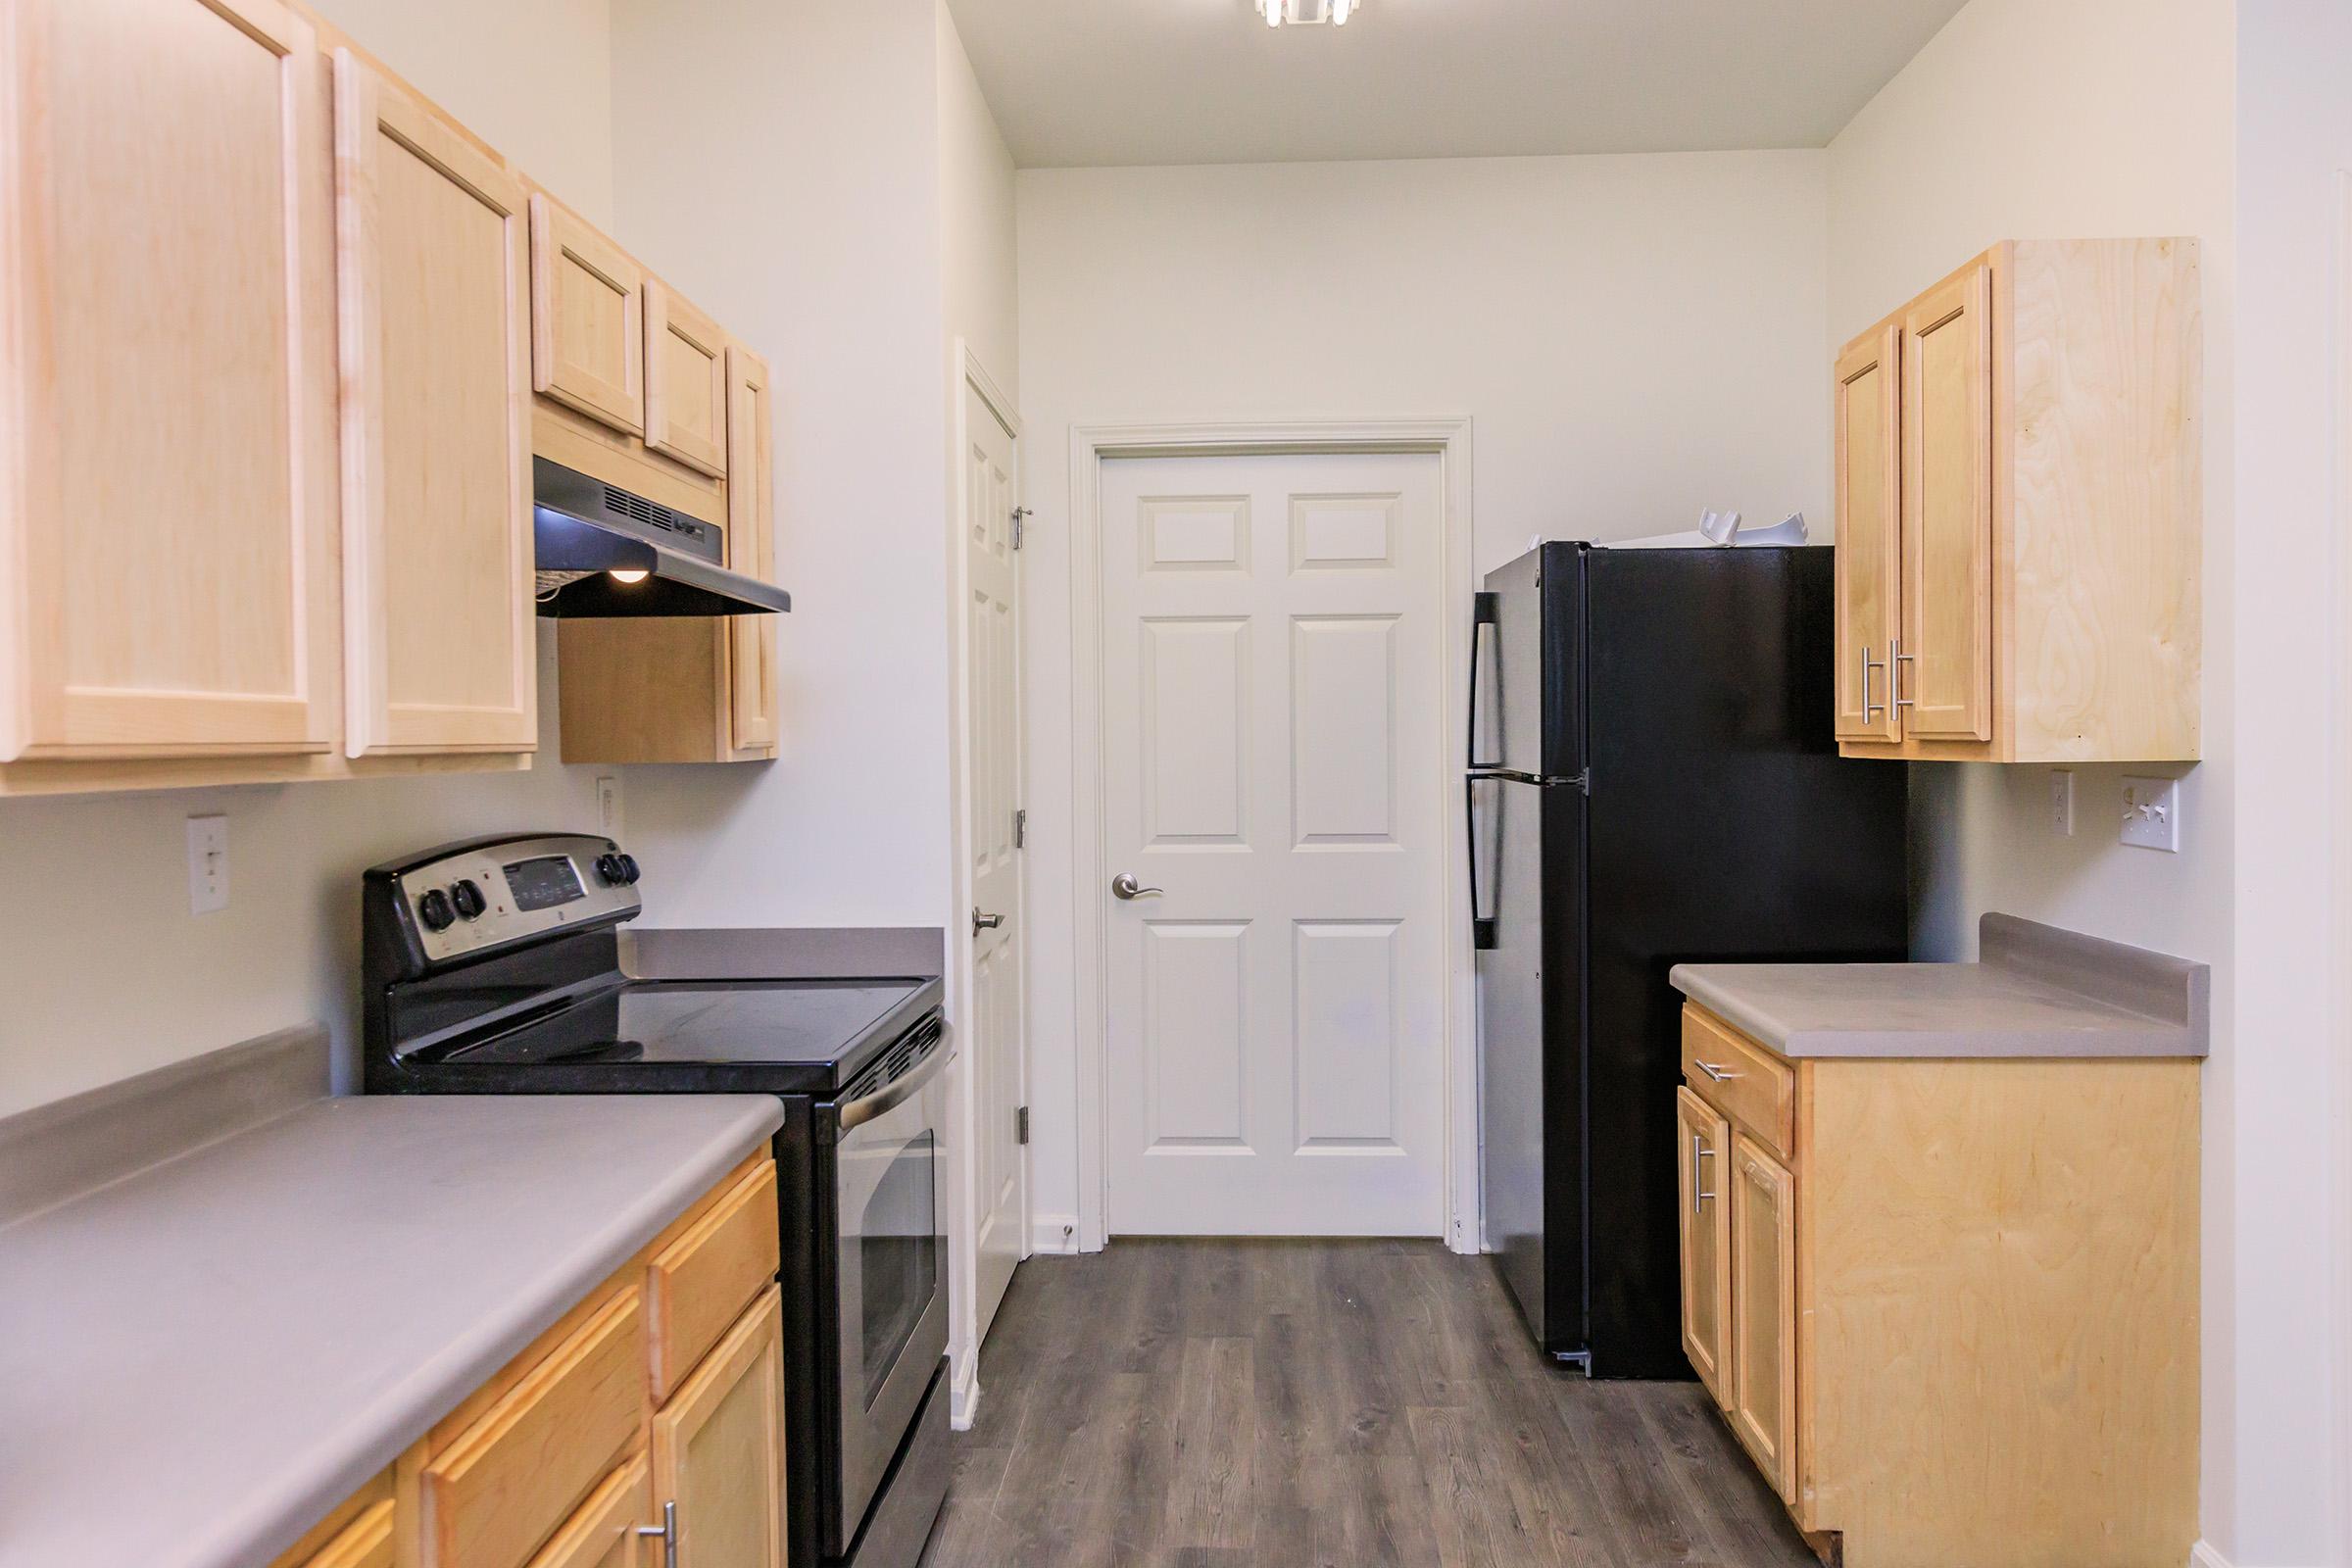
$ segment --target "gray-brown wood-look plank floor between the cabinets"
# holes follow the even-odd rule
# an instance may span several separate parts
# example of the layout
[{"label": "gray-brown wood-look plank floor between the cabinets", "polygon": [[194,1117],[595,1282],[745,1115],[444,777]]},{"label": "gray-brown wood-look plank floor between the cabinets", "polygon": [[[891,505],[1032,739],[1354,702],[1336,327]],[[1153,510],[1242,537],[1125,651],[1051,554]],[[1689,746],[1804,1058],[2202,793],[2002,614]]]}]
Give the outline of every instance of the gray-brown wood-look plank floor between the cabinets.
[{"label": "gray-brown wood-look plank floor between the cabinets", "polygon": [[1811,1568],[1696,1382],[1548,1368],[1435,1241],[1021,1265],[929,1568]]}]

